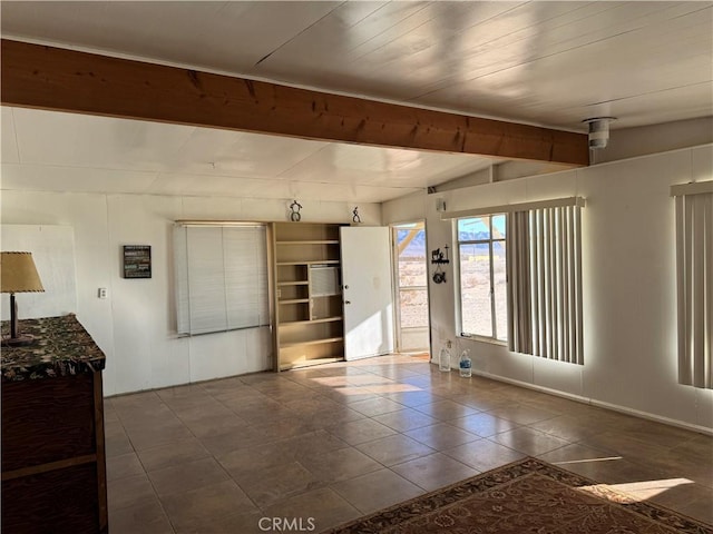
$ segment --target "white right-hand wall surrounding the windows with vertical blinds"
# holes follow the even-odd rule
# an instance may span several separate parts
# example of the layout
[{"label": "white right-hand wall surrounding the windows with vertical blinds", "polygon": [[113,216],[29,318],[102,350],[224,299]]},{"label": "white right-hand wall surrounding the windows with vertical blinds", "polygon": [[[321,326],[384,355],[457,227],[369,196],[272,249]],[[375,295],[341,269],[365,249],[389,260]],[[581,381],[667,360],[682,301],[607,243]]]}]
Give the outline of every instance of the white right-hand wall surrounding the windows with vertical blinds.
[{"label": "white right-hand wall surrounding the windows with vertical blinds", "polygon": [[423,217],[429,247],[452,245],[448,210],[580,195],[585,365],[510,353],[456,337],[452,266],[430,284],[432,352],[447,339],[470,348],[473,369],[685,425],[713,428],[713,392],[677,384],[674,201],[670,186],[713,179],[713,146],[384,205],[384,224]]}]

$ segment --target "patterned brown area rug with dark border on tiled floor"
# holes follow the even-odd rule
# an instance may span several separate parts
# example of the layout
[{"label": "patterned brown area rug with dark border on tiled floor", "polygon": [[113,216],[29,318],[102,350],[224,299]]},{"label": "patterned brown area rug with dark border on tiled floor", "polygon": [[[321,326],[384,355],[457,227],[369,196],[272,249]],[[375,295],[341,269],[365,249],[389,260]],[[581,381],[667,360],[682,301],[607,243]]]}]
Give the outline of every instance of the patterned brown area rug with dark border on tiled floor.
[{"label": "patterned brown area rug with dark border on tiled floor", "polygon": [[328,533],[713,534],[713,525],[525,458]]}]

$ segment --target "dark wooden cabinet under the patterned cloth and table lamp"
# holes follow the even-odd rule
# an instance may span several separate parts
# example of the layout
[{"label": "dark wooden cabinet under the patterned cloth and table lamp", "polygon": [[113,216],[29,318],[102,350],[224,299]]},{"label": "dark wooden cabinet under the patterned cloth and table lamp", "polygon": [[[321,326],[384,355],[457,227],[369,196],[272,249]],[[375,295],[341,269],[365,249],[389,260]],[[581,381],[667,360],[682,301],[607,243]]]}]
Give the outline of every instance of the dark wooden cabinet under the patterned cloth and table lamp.
[{"label": "dark wooden cabinet under the patterned cloth and table lamp", "polygon": [[[92,370],[102,365],[75,359],[59,369],[76,374],[45,366],[38,378],[20,349],[2,350],[2,533],[106,533],[101,370]],[[4,379],[20,369],[30,374]]]}]

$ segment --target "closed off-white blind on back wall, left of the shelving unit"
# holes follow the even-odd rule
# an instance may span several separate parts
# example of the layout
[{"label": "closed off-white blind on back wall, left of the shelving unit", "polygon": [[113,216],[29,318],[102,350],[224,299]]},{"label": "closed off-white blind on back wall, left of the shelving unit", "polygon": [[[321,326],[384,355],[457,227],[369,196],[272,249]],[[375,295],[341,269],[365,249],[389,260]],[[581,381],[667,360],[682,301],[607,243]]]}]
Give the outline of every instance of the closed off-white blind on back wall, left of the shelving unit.
[{"label": "closed off-white blind on back wall, left of the shelving unit", "polygon": [[176,225],[174,259],[178,334],[270,323],[264,225]]}]

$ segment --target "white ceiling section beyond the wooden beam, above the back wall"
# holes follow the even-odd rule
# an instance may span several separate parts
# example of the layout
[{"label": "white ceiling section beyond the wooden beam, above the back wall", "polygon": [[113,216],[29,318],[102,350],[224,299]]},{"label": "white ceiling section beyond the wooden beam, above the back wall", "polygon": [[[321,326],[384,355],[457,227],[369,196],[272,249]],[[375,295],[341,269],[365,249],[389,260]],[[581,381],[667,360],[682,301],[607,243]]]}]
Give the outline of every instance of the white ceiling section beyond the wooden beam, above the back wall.
[{"label": "white ceiling section beyond the wooden beam, above the back wall", "polygon": [[381,202],[494,161],[22,108],[1,120],[3,189]]}]

